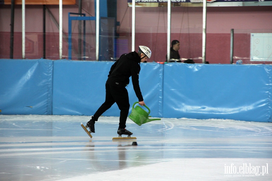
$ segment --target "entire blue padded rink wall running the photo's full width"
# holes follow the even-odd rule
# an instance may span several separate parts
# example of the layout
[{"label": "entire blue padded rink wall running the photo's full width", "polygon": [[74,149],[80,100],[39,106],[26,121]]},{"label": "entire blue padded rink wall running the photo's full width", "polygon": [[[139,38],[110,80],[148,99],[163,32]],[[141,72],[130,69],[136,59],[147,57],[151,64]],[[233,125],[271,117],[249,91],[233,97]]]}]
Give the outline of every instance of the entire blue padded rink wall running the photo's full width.
[{"label": "entire blue padded rink wall running the photo's full width", "polygon": [[[91,116],[105,100],[113,63],[0,59],[0,114]],[[139,81],[152,117],[271,122],[271,69],[141,63]],[[132,106],[138,101],[132,83],[127,89]],[[119,112],[114,104],[103,116]]]}]

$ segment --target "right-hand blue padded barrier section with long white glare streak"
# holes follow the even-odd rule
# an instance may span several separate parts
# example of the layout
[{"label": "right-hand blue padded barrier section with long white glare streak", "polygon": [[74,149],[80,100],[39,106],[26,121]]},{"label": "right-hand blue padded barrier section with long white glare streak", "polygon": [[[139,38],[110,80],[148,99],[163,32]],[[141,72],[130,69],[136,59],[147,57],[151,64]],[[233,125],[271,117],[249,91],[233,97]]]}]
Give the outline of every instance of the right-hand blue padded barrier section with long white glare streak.
[{"label": "right-hand blue padded barrier section with long white glare streak", "polygon": [[165,64],[163,117],[271,122],[271,66]]}]

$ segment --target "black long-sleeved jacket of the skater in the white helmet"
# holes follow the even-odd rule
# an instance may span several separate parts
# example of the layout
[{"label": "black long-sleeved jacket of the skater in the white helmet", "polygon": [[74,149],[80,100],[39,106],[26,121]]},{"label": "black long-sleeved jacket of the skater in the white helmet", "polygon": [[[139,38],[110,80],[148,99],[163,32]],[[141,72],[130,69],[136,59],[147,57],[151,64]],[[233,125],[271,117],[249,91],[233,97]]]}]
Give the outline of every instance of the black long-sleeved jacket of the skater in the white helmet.
[{"label": "black long-sleeved jacket of the skater in the white helmet", "polygon": [[139,86],[140,63],[141,58],[135,51],[121,55],[112,65],[106,83],[115,87],[126,87],[131,77],[135,94],[139,101],[143,101],[144,99]]}]

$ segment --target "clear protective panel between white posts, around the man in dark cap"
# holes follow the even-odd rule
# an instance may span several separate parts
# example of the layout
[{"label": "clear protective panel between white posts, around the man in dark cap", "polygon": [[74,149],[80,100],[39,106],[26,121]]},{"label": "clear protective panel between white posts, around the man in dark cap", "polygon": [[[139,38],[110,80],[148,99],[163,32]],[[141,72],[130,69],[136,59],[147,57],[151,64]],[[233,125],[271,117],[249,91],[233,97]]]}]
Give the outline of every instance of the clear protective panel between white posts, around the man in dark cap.
[{"label": "clear protective panel between white posts, around the man in dark cap", "polygon": [[180,42],[181,62],[192,59],[202,63],[202,3],[172,3],[171,8],[171,42]]}]

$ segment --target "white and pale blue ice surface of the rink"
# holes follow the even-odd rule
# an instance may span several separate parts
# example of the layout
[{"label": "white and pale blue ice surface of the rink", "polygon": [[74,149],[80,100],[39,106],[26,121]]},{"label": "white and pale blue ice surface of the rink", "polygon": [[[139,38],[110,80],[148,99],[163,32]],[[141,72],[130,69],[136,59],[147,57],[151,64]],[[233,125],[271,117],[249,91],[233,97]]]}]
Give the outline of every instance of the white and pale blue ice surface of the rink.
[{"label": "white and pale blue ice surface of the rink", "polygon": [[[0,115],[1,181],[272,180],[272,124],[166,119],[118,137],[119,117]],[[132,145],[136,141],[138,145]]]}]

